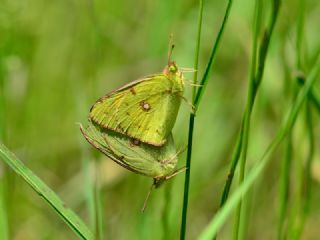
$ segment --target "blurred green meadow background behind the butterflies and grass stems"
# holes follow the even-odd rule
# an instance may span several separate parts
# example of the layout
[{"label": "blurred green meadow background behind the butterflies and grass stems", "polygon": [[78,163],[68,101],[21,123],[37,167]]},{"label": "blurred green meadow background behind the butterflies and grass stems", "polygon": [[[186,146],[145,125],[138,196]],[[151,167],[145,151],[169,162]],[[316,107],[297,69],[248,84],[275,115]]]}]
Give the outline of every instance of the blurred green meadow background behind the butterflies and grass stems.
[{"label": "blurred green meadow background behind the butterflies and grass stems", "polygon": [[[227,1],[205,1],[199,76],[208,61]],[[265,1],[268,2],[268,1]],[[255,103],[248,167],[257,161],[290,108],[296,83],[295,39],[299,1],[283,1]],[[266,16],[268,16],[266,4]],[[303,71],[320,50],[320,3],[305,1]],[[0,129],[3,141],[91,227],[93,191],[99,192],[105,239],[178,239],[184,174],[154,191],[140,213],[152,179],[122,169],[80,135],[96,99],[121,85],[161,72],[169,35],[173,59],[193,67],[198,3],[191,0],[0,0]],[[247,96],[253,1],[235,1],[212,77],[196,117],[188,239],[195,239],[218,209]],[[186,74],[192,79],[192,74]],[[317,87],[320,84],[317,84]],[[191,99],[191,87],[186,96]],[[319,115],[314,112],[319,144]],[[174,136],[187,144],[189,107],[182,104]],[[294,132],[289,209],[298,194],[295,160],[308,149],[305,119]],[[316,145],[318,146],[318,145]],[[275,239],[283,148],[249,193],[247,239]],[[185,165],[185,153],[179,166]],[[13,172],[0,165],[7,186],[10,239],[77,239],[50,207]],[[302,239],[320,236],[320,159],[312,166],[312,211]],[[4,176],[4,172],[6,175]],[[237,180],[237,176],[235,177]],[[172,185],[171,191],[167,191]],[[236,181],[235,184],[236,186]],[[169,193],[168,193],[169,192]],[[168,194],[170,195],[168,197]],[[170,199],[170,200],[168,200]],[[169,201],[169,202],[168,202]],[[163,208],[170,204],[170,230],[163,238]],[[3,213],[2,213],[3,214]],[[231,239],[232,218],[220,233]]]}]

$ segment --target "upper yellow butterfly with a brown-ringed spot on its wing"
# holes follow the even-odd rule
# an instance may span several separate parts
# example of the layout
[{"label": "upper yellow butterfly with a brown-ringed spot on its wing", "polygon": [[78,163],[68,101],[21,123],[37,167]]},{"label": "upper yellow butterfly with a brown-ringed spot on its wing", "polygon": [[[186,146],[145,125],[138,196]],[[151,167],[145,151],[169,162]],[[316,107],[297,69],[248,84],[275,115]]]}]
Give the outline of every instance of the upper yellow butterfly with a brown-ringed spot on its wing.
[{"label": "upper yellow butterfly with a brown-ringed spot on its wing", "polygon": [[[171,51],[170,51],[171,52]],[[100,98],[89,118],[100,127],[162,146],[176,121],[184,80],[175,62],[162,73],[133,81]]]}]

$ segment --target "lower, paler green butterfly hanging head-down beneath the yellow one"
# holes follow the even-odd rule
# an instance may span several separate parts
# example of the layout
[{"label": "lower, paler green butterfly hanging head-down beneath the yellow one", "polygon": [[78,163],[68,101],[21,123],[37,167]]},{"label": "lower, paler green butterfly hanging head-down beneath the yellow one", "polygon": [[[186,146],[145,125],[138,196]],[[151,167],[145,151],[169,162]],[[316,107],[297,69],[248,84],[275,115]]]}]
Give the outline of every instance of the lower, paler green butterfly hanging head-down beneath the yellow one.
[{"label": "lower, paler green butterfly hanging head-down beneath the yellow one", "polygon": [[163,146],[155,147],[108,129],[102,129],[90,121],[86,128],[80,126],[80,129],[93,147],[122,167],[152,177],[155,187],[180,172],[175,169],[178,153],[172,134],[168,136]]}]

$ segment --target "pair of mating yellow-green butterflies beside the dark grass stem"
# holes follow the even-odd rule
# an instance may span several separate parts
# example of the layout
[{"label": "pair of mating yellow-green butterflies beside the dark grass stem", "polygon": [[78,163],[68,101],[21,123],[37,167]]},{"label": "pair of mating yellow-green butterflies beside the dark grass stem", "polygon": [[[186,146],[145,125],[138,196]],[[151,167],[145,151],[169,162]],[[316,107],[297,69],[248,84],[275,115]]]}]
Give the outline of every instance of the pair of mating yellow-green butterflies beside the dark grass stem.
[{"label": "pair of mating yellow-green butterflies beside the dark grass stem", "polygon": [[[170,59],[170,58],[169,58]],[[133,81],[98,99],[81,131],[119,165],[154,179],[175,176],[178,161],[171,130],[183,98],[184,79],[175,62],[161,74]]]}]

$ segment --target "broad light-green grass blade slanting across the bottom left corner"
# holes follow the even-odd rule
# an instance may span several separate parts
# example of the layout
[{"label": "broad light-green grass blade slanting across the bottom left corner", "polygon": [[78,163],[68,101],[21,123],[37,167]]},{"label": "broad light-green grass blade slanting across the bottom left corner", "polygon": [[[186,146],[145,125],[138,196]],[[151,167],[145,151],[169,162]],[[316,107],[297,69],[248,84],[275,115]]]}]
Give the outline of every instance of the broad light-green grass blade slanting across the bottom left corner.
[{"label": "broad light-green grass blade slanting across the bottom left corner", "polygon": [[93,239],[92,232],[82,220],[65,207],[61,199],[40,178],[28,169],[9,149],[0,143],[0,157],[18,175],[20,175],[44,200],[60,215],[60,217],[82,239]]}]

